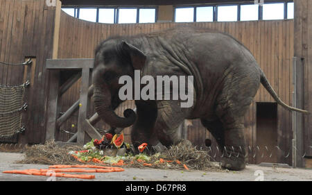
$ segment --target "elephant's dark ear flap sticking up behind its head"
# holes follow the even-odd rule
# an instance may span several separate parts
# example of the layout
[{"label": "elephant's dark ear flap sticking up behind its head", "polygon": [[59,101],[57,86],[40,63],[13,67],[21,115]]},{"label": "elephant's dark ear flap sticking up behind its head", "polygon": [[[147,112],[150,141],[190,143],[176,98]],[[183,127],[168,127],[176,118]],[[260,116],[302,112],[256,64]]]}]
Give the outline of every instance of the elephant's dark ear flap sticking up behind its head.
[{"label": "elephant's dark ear flap sticking up behind its head", "polygon": [[137,47],[123,41],[123,49],[130,54],[132,65],[135,69],[142,69],[146,62],[146,55]]}]

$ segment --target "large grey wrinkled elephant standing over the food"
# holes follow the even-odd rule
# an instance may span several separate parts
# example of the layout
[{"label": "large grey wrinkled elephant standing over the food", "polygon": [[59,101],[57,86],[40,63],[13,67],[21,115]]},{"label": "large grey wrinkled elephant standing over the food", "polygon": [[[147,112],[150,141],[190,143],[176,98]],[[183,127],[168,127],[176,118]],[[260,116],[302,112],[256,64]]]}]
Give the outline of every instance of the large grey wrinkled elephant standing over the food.
[{"label": "large grey wrinkled elephant standing over the food", "polygon": [[[124,117],[119,117],[114,112],[123,102],[119,98],[123,86],[119,78],[134,78],[135,70],[153,78],[193,76],[193,105],[182,108],[181,99],[136,99],[136,112],[127,109]],[[180,26],[110,37],[95,49],[92,83],[96,112],[111,127],[132,126],[134,146],[184,142],[177,136],[177,127],[184,119],[200,119],[223,150],[221,167],[229,170],[245,169],[244,115],[260,83],[284,108],[308,113],[279,99],[243,44],[231,35],[207,28]]]}]

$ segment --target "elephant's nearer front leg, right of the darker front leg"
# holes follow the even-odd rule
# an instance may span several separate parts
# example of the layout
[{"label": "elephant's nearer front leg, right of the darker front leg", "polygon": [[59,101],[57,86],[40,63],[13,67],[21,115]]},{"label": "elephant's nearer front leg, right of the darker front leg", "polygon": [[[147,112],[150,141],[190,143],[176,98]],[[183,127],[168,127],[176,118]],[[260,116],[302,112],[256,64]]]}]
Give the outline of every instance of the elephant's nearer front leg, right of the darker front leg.
[{"label": "elephant's nearer front leg, right of the darker front leg", "polygon": [[178,136],[178,127],[191,111],[189,108],[181,108],[180,101],[157,101],[157,120],[155,132],[159,142],[164,146],[171,146],[182,141]]}]

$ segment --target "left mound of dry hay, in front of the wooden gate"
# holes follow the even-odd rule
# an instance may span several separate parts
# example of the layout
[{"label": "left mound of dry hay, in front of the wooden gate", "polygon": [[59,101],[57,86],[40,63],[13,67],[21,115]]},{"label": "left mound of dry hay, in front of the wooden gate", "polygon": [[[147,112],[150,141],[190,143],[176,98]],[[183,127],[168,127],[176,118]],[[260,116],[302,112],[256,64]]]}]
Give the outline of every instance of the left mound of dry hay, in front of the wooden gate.
[{"label": "left mound of dry hay, in front of the wooden gate", "polygon": [[45,144],[37,144],[25,149],[25,159],[19,161],[22,164],[79,164],[75,158],[69,155],[69,151],[80,151],[82,146],[58,146],[53,140]]}]

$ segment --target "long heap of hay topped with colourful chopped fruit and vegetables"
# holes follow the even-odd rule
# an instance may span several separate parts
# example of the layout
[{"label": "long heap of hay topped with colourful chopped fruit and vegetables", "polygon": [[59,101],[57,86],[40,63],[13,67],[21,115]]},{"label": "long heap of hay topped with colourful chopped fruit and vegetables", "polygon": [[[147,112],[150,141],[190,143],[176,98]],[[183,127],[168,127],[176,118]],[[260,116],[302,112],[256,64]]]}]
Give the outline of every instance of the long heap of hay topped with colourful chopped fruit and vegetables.
[{"label": "long heap of hay topped with colourful chopped fruit and vegetables", "polygon": [[[114,138],[115,137],[115,138]],[[117,141],[116,141],[117,140]],[[114,142],[116,141],[116,142]],[[139,148],[138,148],[139,149]],[[207,151],[198,150],[191,144],[181,142],[161,153],[148,154],[147,144],[141,144],[142,152],[135,154],[132,146],[123,142],[123,134],[112,136],[107,133],[101,140],[92,139],[85,146],[58,146],[53,141],[44,145],[34,145],[26,150],[25,160],[19,163],[33,164],[66,164],[71,168],[92,168],[77,166],[117,166],[117,167],[150,167],[155,169],[209,170],[216,169],[211,165]],[[123,155],[116,155],[125,150]],[[140,149],[139,149],[140,150]],[[81,170],[83,171],[83,170]]]}]

